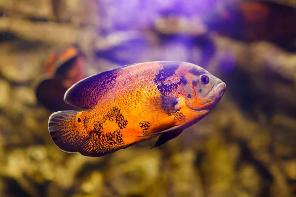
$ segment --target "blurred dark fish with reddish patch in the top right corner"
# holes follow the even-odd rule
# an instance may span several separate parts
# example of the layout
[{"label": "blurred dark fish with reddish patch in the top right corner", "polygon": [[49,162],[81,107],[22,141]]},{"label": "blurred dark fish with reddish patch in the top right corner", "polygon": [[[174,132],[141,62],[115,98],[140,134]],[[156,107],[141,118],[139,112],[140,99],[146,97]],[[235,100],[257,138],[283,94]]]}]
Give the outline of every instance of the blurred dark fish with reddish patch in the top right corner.
[{"label": "blurred dark fish with reddish patch in the top right corner", "polygon": [[246,42],[270,41],[296,51],[296,8],[271,1],[238,1],[206,15],[210,30]]}]

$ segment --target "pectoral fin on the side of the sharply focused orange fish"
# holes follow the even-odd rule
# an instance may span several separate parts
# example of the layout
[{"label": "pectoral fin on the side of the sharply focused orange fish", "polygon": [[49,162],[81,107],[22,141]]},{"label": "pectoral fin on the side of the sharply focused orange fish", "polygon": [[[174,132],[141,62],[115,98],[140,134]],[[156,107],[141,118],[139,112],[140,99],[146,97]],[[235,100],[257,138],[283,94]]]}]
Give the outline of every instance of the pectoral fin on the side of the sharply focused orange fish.
[{"label": "pectoral fin on the side of the sharply focused orange fish", "polygon": [[144,106],[149,108],[152,113],[164,112],[167,114],[178,111],[179,98],[175,97],[155,97],[144,102]]}]

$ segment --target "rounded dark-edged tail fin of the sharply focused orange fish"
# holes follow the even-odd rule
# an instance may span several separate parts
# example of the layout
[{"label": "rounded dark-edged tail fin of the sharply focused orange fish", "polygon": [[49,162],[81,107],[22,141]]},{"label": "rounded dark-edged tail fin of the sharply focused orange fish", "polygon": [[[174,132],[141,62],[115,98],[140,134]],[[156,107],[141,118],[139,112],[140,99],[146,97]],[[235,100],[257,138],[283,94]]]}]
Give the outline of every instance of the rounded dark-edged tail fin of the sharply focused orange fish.
[{"label": "rounded dark-edged tail fin of the sharply focused orange fish", "polygon": [[65,152],[78,152],[86,140],[76,128],[77,113],[74,110],[58,111],[51,114],[48,120],[48,130],[53,142]]}]

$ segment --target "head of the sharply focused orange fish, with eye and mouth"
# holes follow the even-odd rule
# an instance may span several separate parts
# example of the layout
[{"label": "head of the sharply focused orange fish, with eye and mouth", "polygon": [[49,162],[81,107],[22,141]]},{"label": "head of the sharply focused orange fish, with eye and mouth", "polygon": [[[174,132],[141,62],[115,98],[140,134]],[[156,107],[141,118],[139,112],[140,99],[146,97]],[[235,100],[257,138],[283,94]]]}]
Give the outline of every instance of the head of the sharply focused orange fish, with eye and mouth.
[{"label": "head of the sharply focused orange fish, with eye and mouth", "polygon": [[185,105],[193,111],[210,111],[222,98],[226,84],[200,66],[190,64],[184,76]]}]

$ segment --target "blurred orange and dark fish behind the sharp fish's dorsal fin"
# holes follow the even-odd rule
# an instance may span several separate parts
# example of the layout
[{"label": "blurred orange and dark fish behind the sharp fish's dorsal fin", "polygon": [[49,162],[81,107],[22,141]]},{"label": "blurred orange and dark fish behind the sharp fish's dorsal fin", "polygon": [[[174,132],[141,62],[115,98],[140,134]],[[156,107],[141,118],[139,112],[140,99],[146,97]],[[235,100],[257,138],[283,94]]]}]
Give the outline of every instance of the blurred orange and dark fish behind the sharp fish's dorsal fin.
[{"label": "blurred orange and dark fish behind the sharp fish's dorsal fin", "polygon": [[44,72],[36,88],[38,102],[54,111],[74,109],[63,98],[74,83],[85,77],[83,54],[75,46],[50,53],[44,63]]}]

